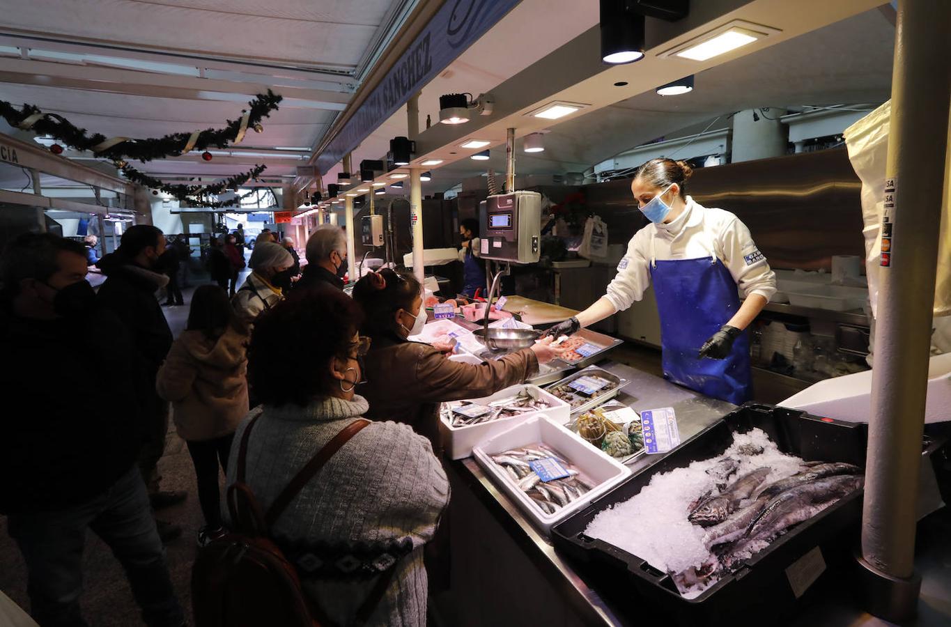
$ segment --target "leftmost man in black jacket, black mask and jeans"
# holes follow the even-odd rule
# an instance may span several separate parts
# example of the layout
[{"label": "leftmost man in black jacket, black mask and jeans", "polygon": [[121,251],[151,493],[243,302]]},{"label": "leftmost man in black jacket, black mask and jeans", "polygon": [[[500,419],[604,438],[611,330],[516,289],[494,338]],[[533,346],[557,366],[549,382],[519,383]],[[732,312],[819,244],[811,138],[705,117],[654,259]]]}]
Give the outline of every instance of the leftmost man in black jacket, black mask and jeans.
[{"label": "leftmost man in black jacket, black mask and jeans", "polygon": [[[47,233],[18,237],[0,262],[0,381],[15,403],[0,418],[0,512],[40,624],[86,624],[79,597],[91,529],[125,567],[145,622],[182,625],[135,464],[139,362],[123,325],[97,308],[86,272],[83,245]],[[90,362],[107,378],[105,397],[90,391]]]}]

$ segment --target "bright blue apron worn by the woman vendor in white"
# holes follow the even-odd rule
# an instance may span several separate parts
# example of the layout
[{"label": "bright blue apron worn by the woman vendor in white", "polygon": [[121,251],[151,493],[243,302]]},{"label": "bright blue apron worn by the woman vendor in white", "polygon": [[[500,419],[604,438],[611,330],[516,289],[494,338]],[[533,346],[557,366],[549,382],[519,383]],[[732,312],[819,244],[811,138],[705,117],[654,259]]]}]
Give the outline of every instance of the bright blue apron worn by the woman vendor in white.
[{"label": "bright blue apron worn by the woman vendor in white", "polygon": [[740,308],[727,266],[716,255],[651,260],[650,280],[660,314],[664,377],[701,394],[741,404],[750,397],[749,336],[733,342],[727,359],[700,359],[697,351]]}]

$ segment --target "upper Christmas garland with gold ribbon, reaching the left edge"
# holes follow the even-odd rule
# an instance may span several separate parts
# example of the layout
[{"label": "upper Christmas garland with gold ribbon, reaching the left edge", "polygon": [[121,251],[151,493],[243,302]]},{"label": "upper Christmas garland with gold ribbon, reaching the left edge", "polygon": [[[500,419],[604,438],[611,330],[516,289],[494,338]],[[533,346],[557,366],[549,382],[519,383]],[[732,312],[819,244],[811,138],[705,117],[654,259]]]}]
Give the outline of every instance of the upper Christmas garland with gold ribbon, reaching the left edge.
[{"label": "upper Christmas garland with gold ribbon, reaching the left edge", "polygon": [[90,136],[87,135],[86,128],[75,127],[61,115],[44,113],[34,105],[24,105],[21,110],[17,110],[4,100],[0,100],[0,116],[12,127],[49,135],[69,147],[88,150],[98,157],[116,161],[135,159],[146,163],[152,159],[179,157],[193,149],[226,148],[232,142],[240,142],[247,127],[262,132],[262,119],[269,117],[270,112],[278,108],[282,99],[280,94],[268,89],[266,94],[258,94],[254,100],[248,102],[248,108],[242,111],[242,116],[236,120],[228,120],[224,128],[171,133],[152,139],[107,138],[100,133]]}]

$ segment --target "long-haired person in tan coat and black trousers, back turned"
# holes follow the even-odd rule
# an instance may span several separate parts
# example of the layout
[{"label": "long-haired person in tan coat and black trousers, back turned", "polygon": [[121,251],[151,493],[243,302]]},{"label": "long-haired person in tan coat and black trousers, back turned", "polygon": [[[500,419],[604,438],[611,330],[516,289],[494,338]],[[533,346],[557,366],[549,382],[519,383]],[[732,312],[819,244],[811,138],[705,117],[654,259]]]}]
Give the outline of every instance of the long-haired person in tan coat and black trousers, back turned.
[{"label": "long-haired person in tan coat and black trousers, back turned", "polygon": [[224,535],[218,468],[220,462],[227,469],[231,440],[248,410],[247,343],[247,324],[227,293],[218,285],[202,285],[156,382],[159,395],[172,402],[172,420],[195,464],[205,522],[199,546]]}]

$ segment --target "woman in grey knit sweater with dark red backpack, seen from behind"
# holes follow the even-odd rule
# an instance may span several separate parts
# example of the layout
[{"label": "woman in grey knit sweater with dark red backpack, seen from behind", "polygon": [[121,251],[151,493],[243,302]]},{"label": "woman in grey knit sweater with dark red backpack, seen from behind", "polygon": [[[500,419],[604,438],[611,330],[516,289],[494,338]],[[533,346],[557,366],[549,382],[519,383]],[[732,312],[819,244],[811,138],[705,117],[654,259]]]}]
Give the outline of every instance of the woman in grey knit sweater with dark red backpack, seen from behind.
[{"label": "woman in grey knit sweater with dark red backpack, seen from behind", "polygon": [[263,404],[228,460],[225,518],[236,533],[195,564],[199,627],[426,624],[422,551],[449,484],[411,427],[360,418],[360,318],[343,293],[316,291],[257,319],[248,376]]}]

